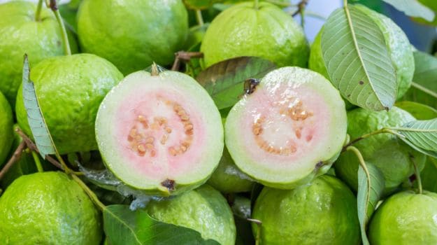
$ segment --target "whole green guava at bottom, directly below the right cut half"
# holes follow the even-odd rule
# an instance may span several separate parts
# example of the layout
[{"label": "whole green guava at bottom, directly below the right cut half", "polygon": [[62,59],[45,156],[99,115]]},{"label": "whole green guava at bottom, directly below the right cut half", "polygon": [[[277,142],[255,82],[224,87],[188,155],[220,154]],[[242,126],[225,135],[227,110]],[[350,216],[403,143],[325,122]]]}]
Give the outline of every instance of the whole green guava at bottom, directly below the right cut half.
[{"label": "whole green guava at bottom, directly below the right cut half", "polygon": [[[348,186],[323,175],[294,190],[265,187],[252,218],[260,244],[359,244],[357,200]],[[254,236],[258,227],[252,224]]]}]

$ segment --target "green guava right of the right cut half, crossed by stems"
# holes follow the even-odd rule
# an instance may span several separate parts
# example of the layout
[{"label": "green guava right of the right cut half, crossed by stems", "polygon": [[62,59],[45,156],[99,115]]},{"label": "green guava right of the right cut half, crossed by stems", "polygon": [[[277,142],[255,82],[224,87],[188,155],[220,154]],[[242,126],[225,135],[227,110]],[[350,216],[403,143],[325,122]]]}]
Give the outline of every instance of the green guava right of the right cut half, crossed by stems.
[{"label": "green guava right of the right cut half, crossed by stems", "polygon": [[[389,111],[354,109],[348,111],[348,134],[350,139],[354,140],[383,127],[401,127],[413,120],[415,118],[410,113],[396,106]],[[380,169],[385,179],[385,194],[392,193],[414,173],[412,161],[422,170],[426,160],[424,154],[388,133],[362,139],[353,146],[359,149],[366,162],[371,162]],[[358,186],[358,166],[357,156],[350,151],[342,153],[334,165],[336,175],[353,190],[357,190]]]}]

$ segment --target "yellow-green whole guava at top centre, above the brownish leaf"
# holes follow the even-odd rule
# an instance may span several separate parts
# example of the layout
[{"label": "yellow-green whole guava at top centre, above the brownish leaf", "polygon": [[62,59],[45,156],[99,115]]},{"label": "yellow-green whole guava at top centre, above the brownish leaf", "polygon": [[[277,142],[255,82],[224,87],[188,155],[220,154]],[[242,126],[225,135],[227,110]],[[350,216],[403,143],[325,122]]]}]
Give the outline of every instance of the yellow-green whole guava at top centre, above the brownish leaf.
[{"label": "yellow-green whole guava at top centre, above the brownish leaf", "polygon": [[211,22],[201,45],[206,66],[239,56],[269,59],[278,66],[306,66],[309,47],[301,27],[281,8],[237,3]]}]

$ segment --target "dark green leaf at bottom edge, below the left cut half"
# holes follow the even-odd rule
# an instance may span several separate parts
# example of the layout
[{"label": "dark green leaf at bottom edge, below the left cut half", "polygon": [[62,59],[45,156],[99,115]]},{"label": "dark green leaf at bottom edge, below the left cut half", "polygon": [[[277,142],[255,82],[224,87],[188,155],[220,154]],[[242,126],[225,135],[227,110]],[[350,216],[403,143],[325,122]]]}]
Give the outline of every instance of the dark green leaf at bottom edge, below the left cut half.
[{"label": "dark green leaf at bottom edge, below the left cut half", "polygon": [[162,223],[145,211],[131,211],[127,205],[110,205],[103,210],[103,229],[110,244],[219,244],[204,240],[199,232],[178,225]]}]

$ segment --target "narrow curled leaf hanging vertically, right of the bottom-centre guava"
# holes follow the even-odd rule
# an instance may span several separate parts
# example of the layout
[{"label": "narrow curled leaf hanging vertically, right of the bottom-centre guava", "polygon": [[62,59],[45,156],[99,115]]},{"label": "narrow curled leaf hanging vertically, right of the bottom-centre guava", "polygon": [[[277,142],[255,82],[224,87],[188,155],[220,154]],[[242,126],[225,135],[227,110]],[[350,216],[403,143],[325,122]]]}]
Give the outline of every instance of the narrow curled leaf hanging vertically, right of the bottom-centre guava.
[{"label": "narrow curled leaf hanging vertically, right of the bottom-centre guava", "polygon": [[378,167],[366,162],[366,169],[367,171],[359,166],[357,193],[358,220],[364,245],[369,244],[366,236],[368,220],[375,211],[385,185],[384,176]]}]

